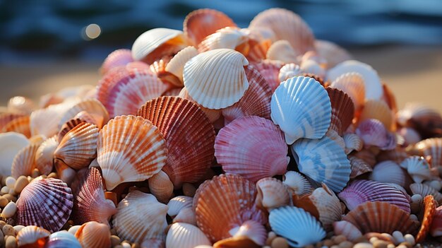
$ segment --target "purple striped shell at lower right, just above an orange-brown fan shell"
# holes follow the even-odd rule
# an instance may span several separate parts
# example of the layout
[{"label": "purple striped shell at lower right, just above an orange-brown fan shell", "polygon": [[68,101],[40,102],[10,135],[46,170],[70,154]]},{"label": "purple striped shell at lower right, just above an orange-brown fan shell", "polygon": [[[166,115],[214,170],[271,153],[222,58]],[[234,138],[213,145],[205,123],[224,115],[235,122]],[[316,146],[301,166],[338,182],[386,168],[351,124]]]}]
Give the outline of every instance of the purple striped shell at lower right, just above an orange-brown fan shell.
[{"label": "purple striped shell at lower right, just above an orange-brown fan shell", "polygon": [[366,201],[385,201],[410,213],[410,201],[404,194],[398,189],[381,182],[354,180],[338,196],[350,211]]}]

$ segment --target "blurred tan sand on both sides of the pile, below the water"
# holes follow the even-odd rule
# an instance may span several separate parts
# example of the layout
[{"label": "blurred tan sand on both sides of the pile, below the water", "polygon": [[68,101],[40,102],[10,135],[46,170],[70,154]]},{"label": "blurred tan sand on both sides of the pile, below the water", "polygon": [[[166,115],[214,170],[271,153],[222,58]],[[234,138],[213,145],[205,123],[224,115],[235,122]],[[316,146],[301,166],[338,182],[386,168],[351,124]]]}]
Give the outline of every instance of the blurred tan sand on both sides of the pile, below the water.
[{"label": "blurred tan sand on both sides of the pile, below the water", "polygon": [[[350,49],[354,59],[370,64],[395,93],[399,107],[424,102],[442,113],[441,47],[374,47]],[[96,85],[99,63],[60,61],[52,64],[0,65],[0,105],[8,98],[40,95],[73,85]]]}]

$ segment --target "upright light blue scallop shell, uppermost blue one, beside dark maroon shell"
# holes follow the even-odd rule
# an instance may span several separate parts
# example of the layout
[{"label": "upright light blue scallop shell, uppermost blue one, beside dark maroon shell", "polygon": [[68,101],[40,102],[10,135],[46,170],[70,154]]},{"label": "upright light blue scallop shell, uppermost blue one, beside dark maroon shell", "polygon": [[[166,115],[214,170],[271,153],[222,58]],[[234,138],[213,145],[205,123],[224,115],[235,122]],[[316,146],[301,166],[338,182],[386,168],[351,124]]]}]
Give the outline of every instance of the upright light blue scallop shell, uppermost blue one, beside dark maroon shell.
[{"label": "upright light blue scallop shell, uppermost blue one, beside dark maroon shell", "polygon": [[313,78],[297,76],[281,83],[272,95],[270,108],[287,144],[299,138],[321,138],[330,126],[330,99]]}]

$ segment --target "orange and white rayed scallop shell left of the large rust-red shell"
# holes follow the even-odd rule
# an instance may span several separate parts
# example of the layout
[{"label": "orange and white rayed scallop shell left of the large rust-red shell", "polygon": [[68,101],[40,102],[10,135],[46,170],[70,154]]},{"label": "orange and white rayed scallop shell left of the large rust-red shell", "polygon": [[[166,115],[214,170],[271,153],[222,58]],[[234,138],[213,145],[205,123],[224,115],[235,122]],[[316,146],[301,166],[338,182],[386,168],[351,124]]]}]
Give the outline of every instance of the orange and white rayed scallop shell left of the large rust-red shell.
[{"label": "orange and white rayed scallop shell left of the large rust-red shell", "polygon": [[108,190],[122,182],[152,177],[166,159],[167,148],[160,130],[142,117],[118,116],[100,130],[97,162]]}]

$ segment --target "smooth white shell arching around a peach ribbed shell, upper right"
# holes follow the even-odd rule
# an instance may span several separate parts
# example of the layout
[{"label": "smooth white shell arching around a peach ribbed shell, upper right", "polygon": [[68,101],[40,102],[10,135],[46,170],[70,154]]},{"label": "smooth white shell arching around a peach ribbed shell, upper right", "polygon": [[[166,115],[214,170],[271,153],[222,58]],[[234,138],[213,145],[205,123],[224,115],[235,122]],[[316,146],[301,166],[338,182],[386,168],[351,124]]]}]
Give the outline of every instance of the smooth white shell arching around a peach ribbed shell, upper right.
[{"label": "smooth white shell arching around a peach ribbed shell, upper right", "polygon": [[[383,95],[381,79],[378,73],[368,64],[356,60],[347,60],[327,71],[327,80],[335,81],[344,73],[359,73],[364,79],[365,98],[379,100]],[[345,90],[344,90],[345,91]],[[357,104],[355,104],[357,105]]]}]

